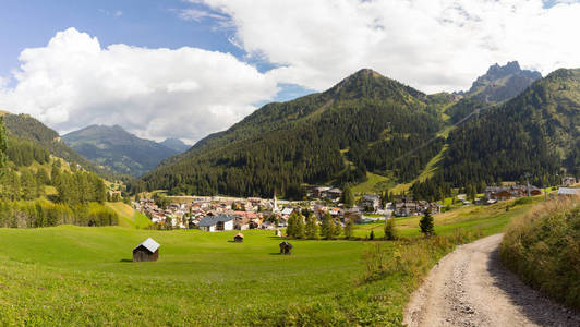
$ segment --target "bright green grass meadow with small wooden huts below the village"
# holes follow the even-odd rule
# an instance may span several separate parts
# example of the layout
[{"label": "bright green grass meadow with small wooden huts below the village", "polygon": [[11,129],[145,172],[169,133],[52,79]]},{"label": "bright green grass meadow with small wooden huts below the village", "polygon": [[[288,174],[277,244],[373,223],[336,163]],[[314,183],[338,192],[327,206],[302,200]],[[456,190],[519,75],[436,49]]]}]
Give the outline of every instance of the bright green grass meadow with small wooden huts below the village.
[{"label": "bright green grass meadow with small wooden huts below the village", "polygon": [[[509,211],[505,206],[437,215],[436,231],[494,233],[532,204]],[[416,223],[418,218],[397,219],[399,233],[411,238],[419,233]],[[380,237],[380,223],[358,226],[355,234],[373,228]],[[274,232],[244,231],[244,243],[230,242],[235,233],[0,229],[0,325],[397,326],[421,277],[450,251],[421,252],[430,256],[404,264],[409,269],[364,280],[366,253],[376,246],[398,246],[404,254],[427,245],[291,241],[294,253],[281,256]],[[159,261],[131,263],[132,249],[148,237],[161,244]]]}]

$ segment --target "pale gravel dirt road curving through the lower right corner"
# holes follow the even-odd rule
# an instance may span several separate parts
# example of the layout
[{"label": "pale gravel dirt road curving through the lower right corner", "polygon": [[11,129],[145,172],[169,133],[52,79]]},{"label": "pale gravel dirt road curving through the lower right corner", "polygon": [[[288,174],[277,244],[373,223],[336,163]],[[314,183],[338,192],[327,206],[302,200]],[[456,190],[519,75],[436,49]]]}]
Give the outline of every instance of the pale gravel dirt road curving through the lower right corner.
[{"label": "pale gravel dirt road curving through the lower right corner", "polygon": [[458,246],[416,290],[404,311],[414,326],[580,326],[580,314],[523,284],[499,262],[495,234]]}]

